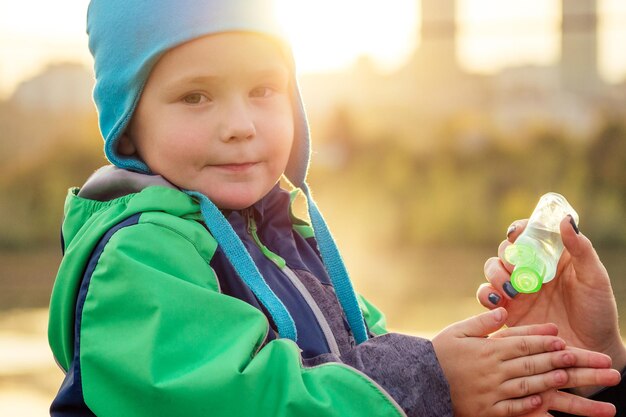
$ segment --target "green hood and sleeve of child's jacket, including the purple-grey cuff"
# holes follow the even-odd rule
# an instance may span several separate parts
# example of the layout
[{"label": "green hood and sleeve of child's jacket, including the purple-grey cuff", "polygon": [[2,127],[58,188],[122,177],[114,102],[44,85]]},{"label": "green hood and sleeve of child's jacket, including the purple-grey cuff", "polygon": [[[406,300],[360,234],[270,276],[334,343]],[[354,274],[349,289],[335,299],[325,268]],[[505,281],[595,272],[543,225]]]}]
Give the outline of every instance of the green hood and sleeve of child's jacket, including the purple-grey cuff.
[{"label": "green hood and sleeve of child's jacket, including the purple-grey cuff", "polygon": [[452,415],[430,342],[385,334],[359,297],[380,336],[303,359],[268,338],[261,309],[223,293],[197,202],[160,177],[129,186],[109,174],[65,203],[49,341],[66,378],[53,416]]}]

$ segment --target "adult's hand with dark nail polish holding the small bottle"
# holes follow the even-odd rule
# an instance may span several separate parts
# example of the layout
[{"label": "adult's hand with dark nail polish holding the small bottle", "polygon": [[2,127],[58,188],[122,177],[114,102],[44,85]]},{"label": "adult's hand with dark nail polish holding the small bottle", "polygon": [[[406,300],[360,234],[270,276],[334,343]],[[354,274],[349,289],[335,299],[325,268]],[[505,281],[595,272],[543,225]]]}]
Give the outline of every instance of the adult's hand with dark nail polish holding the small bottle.
[{"label": "adult's hand with dark nail polish holding the small bottle", "polygon": [[513,266],[504,261],[503,253],[526,224],[526,220],[514,222],[514,230],[500,244],[499,257],[485,263],[489,283],[478,289],[478,300],[487,308],[505,307],[508,326],[556,323],[569,346],[605,353],[611,356],[613,367],[621,370],[626,366],[626,347],[617,324],[609,275],[589,239],[577,234],[568,218],[561,222],[565,249],[554,280],[534,294],[515,295],[511,291]]}]

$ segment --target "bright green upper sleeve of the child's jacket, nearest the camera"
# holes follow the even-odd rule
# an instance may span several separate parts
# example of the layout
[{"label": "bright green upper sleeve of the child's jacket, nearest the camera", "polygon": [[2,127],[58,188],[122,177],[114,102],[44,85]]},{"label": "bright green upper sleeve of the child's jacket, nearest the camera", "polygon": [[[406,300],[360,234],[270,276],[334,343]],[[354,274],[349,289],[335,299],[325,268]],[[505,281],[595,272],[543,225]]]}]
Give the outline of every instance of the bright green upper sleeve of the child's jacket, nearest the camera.
[{"label": "bright green upper sleeve of the child's jacket, nearest the camera", "polygon": [[117,231],[79,311],[82,392],[97,416],[405,415],[354,367],[305,367],[294,342],[263,345],[266,317],[221,294],[198,242],[172,227]]}]

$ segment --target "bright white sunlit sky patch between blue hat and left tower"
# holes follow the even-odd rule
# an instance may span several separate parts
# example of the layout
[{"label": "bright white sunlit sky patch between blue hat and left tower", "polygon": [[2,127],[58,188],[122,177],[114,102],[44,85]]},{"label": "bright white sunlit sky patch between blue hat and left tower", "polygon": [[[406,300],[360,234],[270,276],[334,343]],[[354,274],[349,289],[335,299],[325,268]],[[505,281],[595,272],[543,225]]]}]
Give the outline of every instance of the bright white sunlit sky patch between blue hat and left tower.
[{"label": "bright white sunlit sky patch between blue hat and left tower", "polygon": [[298,65],[306,72],[346,67],[363,55],[388,69],[416,46],[414,0],[276,1]]}]

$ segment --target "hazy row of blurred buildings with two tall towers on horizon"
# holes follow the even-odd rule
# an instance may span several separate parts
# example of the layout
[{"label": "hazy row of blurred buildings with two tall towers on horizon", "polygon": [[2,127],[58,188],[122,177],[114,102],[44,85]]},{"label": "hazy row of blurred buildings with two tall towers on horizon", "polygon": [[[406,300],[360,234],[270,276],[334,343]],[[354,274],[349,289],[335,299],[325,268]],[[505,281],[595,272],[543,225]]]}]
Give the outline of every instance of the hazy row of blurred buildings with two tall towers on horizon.
[{"label": "hazy row of blurred buildings with two tall towers on horizon", "polygon": [[349,108],[362,140],[386,135],[409,147],[437,144],[455,120],[468,117],[484,131],[509,137],[542,126],[584,139],[607,109],[615,112],[613,104],[621,102],[617,86],[599,76],[596,0],[562,0],[561,55],[555,65],[506,68],[494,76],[471,74],[459,65],[455,0],[419,4],[419,47],[394,74],[380,74],[361,59],[349,74],[304,77],[313,120]]}]

